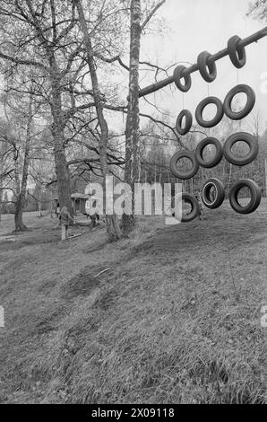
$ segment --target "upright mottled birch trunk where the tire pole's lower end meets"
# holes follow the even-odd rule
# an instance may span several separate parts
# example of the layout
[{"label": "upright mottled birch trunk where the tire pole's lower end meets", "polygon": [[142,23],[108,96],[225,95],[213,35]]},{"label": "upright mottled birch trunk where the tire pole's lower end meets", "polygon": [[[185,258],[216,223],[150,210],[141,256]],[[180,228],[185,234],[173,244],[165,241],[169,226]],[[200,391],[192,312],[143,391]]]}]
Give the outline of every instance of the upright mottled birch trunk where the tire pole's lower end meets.
[{"label": "upright mottled birch trunk where the tire pole's lower end meets", "polygon": [[139,133],[139,60],[141,40],[141,0],[131,1],[130,72],[128,110],[125,130],[125,182],[133,192],[133,214],[123,215],[123,230],[129,233],[135,224],[134,183],[140,180]]}]

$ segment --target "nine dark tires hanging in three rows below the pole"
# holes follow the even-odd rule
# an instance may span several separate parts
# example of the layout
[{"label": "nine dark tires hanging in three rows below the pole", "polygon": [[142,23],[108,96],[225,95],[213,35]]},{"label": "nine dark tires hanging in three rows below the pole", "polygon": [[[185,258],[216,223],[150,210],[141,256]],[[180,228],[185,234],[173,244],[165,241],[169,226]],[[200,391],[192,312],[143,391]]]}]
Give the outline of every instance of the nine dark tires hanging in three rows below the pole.
[{"label": "nine dark tires hanging in three rows below the pole", "polygon": [[[247,100],[245,107],[240,111],[233,111],[231,104],[234,96],[239,93],[244,92],[246,94]],[[240,120],[244,119],[254,108],[255,103],[255,94],[254,90],[245,84],[239,84],[232,88],[224,102],[222,103],[217,97],[207,97],[202,100],[195,110],[195,119],[198,124],[202,127],[214,127],[220,123],[220,120],[223,118],[223,115],[226,114],[229,119]],[[207,121],[202,118],[202,112],[208,104],[215,104],[217,107],[216,115],[213,119]],[[182,121],[185,118],[185,127],[182,127]],[[192,127],[193,117],[189,110],[182,110],[177,117],[177,132],[179,135],[185,135]],[[243,157],[238,157],[232,151],[233,146],[238,142],[243,141],[249,147],[249,152]],[[207,145],[214,145],[215,154],[210,160],[204,160],[203,151]],[[215,137],[206,137],[197,145],[195,152],[193,151],[178,151],[174,154],[170,160],[170,169],[173,174],[181,180],[187,180],[194,177],[196,172],[199,170],[199,166],[203,168],[211,169],[218,165],[223,158],[234,165],[243,166],[249,163],[252,163],[258,154],[258,143],[254,136],[246,132],[237,132],[231,136],[228,136],[225,144],[222,145],[220,140]],[[177,168],[177,163],[182,158],[187,158],[192,163],[192,166],[187,171],[181,171]],[[238,201],[238,193],[240,189],[247,188],[250,191],[250,201],[242,206]],[[215,191],[215,196],[211,195],[211,192]],[[198,215],[200,215],[200,206],[196,198],[189,193],[182,193],[182,197],[185,202],[191,205],[191,211],[182,215],[182,222],[190,222],[194,220]],[[241,179],[237,180],[229,190],[228,194],[230,206],[238,214],[250,214],[253,213],[261,203],[261,189],[255,183],[254,180]],[[202,187],[202,203],[205,207],[210,209],[215,209],[220,207],[225,199],[225,189],[223,183],[219,179],[212,178],[207,180],[204,186]]]}]

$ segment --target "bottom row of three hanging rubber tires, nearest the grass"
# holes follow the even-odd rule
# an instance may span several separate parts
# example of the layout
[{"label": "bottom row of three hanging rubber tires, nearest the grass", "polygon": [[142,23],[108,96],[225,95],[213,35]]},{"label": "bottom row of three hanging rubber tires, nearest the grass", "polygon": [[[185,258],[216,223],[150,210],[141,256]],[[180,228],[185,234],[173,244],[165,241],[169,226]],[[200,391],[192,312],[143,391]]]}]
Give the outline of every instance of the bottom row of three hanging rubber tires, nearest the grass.
[{"label": "bottom row of three hanging rubber tires, nearest the grass", "polygon": [[[245,206],[241,205],[238,201],[238,193],[243,188],[247,188],[250,191],[250,201]],[[215,196],[211,195],[212,189],[215,190]],[[205,182],[204,186],[202,187],[202,203],[205,207],[208,207],[210,209],[219,208],[223,203],[224,198],[225,189],[221,180],[212,178]],[[228,194],[230,206],[238,214],[243,215],[253,213],[257,209],[257,207],[259,207],[261,203],[261,198],[262,194],[260,187],[254,180],[250,179],[237,180],[231,186]],[[196,218],[198,215],[200,215],[201,210],[199,203],[193,195],[184,192],[181,194],[180,199],[185,200],[185,202],[191,205],[191,211],[186,215],[182,215],[181,221],[183,223],[188,223],[194,220],[194,218]]]}]

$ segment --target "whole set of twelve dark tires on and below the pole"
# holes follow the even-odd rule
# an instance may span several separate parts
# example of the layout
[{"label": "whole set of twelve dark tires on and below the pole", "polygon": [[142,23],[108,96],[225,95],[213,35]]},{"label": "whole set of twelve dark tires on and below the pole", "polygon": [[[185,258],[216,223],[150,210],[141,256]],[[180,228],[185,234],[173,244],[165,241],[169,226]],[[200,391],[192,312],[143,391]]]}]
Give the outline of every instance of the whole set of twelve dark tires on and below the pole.
[{"label": "whole set of twelve dark tires on and below the pole", "polygon": [[[242,40],[237,36],[233,36],[228,40],[228,56],[237,69],[245,66],[246,55],[245,47],[241,44]],[[207,83],[211,83],[217,76],[217,67],[214,58],[208,51],[202,51],[197,57],[197,67],[202,75],[202,78]],[[177,66],[173,74],[174,82],[177,88],[182,92],[188,92],[192,85],[192,78],[190,72],[185,66]],[[184,80],[184,83],[183,83]],[[232,101],[237,93],[243,92],[246,94],[246,103],[243,110],[232,110]],[[224,114],[232,120],[244,119],[254,108],[255,94],[254,90],[245,84],[238,84],[232,88],[223,103],[217,97],[207,97],[202,100],[195,110],[195,119],[201,127],[214,127],[218,125]],[[202,117],[204,108],[209,104],[215,104],[217,111],[216,115],[211,120],[205,120]],[[182,123],[185,119],[185,125]],[[190,110],[182,110],[177,117],[177,133],[185,136],[191,129],[193,124],[193,116]],[[237,157],[233,151],[233,146],[238,141],[244,141],[249,146],[249,153],[244,157]],[[207,145],[215,146],[215,154],[211,160],[203,159],[203,150]],[[195,152],[178,151],[173,155],[170,161],[170,169],[177,178],[187,180],[194,177],[198,171],[199,166],[204,168],[212,168],[218,165],[224,156],[229,163],[243,166],[252,163],[258,154],[258,144],[254,136],[246,132],[238,132],[228,137],[225,144],[222,146],[219,139],[215,137],[206,137],[197,145]],[[188,171],[180,171],[177,168],[177,162],[182,158],[188,158],[192,163],[192,168]],[[238,193],[240,189],[247,188],[250,190],[250,201],[245,206],[242,206],[238,201]],[[215,191],[215,195],[212,192]],[[181,197],[185,202],[191,204],[191,211],[189,214],[182,215],[182,222],[189,222],[200,215],[200,205],[198,200],[193,195],[183,192]],[[207,180],[202,187],[202,203],[205,207],[214,209],[220,207],[225,198],[225,189],[223,183],[219,179]],[[229,194],[230,206],[239,214],[250,214],[259,207],[261,202],[261,189],[254,180],[241,179],[237,180],[230,188]],[[175,215],[175,214],[174,214]]]}]

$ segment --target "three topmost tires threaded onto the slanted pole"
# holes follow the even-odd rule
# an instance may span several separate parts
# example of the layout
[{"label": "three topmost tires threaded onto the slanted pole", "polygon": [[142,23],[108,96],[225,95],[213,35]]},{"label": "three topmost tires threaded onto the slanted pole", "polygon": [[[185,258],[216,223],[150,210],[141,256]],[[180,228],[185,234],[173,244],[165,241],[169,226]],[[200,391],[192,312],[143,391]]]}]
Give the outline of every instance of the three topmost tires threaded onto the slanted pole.
[{"label": "three topmost tires threaded onto the slanted pole", "polygon": [[[228,40],[228,56],[237,69],[245,66],[246,55],[245,47],[240,45],[240,37],[234,35]],[[197,57],[197,66],[204,81],[211,83],[217,76],[217,67],[215,60],[212,60],[212,55],[208,51],[202,51]],[[185,66],[177,66],[173,74],[174,82],[177,88],[182,92],[190,90],[192,85],[192,78]],[[184,84],[182,83],[184,79]]]}]

